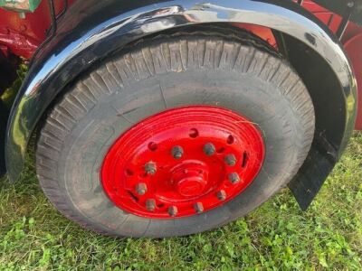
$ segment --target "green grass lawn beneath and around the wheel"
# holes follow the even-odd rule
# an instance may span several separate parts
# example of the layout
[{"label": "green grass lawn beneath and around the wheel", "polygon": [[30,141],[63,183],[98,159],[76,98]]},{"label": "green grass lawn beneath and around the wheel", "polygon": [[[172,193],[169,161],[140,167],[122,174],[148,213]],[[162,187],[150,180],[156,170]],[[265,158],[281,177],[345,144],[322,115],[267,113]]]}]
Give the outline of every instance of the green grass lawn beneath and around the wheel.
[{"label": "green grass lawn beneath and around the wheel", "polygon": [[[30,159],[29,159],[30,161]],[[54,210],[28,163],[0,188],[0,269],[362,269],[362,134],[310,210],[284,190],[244,219],[186,238],[117,239]]]}]

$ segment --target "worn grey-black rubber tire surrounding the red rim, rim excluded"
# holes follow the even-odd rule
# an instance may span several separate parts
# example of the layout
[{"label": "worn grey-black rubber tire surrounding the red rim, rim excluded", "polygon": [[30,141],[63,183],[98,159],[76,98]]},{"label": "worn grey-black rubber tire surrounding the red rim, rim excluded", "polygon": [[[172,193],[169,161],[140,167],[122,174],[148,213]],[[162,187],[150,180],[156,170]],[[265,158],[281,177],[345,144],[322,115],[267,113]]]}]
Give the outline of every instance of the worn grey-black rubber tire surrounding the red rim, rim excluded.
[{"label": "worn grey-black rubber tire surrounding the red rim, rim excluded", "polygon": [[[110,145],[166,107],[205,104],[240,112],[262,130],[262,171],[233,201],[174,220],[116,207],[100,165]],[[308,90],[285,61],[252,34],[176,33],[138,42],[84,75],[52,108],[37,144],[43,191],[66,217],[102,234],[164,238],[214,229],[262,204],[291,181],[314,135]]]}]

